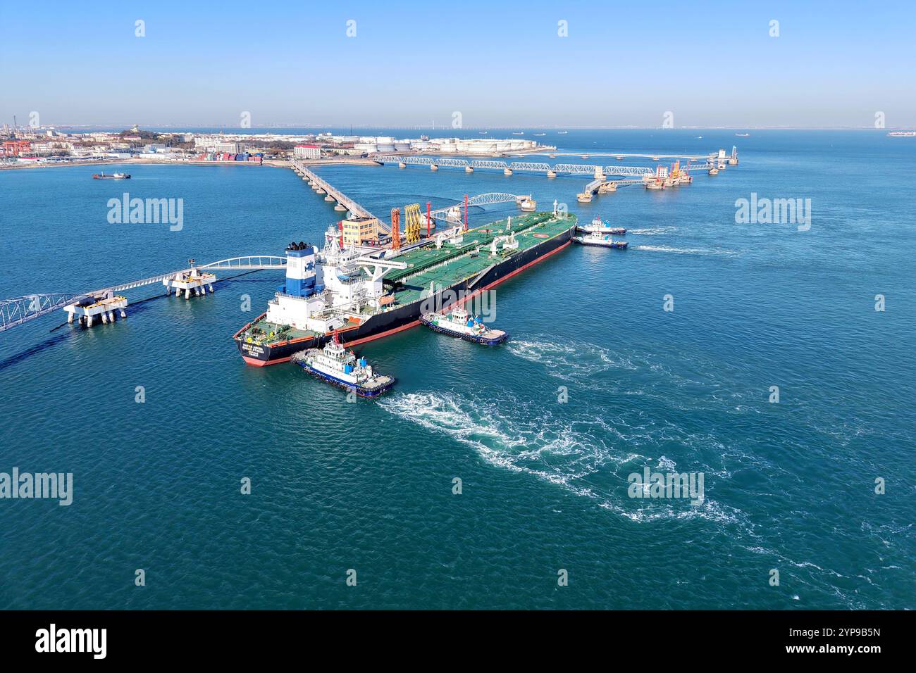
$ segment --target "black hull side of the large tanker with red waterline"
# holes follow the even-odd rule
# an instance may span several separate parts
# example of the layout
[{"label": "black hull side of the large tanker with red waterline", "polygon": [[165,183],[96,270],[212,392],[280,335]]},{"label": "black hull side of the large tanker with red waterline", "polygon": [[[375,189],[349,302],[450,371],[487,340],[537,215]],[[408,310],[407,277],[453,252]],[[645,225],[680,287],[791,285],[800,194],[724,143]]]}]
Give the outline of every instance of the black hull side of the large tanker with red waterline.
[{"label": "black hull side of the large tanker with red waterline", "polygon": [[[436,304],[435,309],[447,309],[453,304],[463,303],[468,299],[483,292],[487,288],[492,288],[497,283],[506,280],[507,277],[514,276],[523,271],[527,266],[531,266],[547,255],[551,255],[562,247],[569,245],[573,238],[575,227],[554,236],[553,238],[529,248],[523,253],[512,255],[508,259],[487,270],[482,276],[473,277],[453,285],[451,288],[443,288],[443,293],[452,291],[449,297],[457,296],[458,300],[448,301],[442,304]],[[359,343],[380,339],[397,331],[406,330],[409,327],[420,324],[420,315],[428,312],[430,299],[418,299],[397,309],[379,313],[358,327],[344,329],[338,332],[338,338],[341,343],[357,345]],[[263,317],[263,316],[261,316]],[[258,319],[259,320],[259,319]],[[247,325],[245,326],[245,328]],[[305,350],[307,348],[321,348],[324,343],[331,339],[331,335],[321,337],[294,339],[289,342],[273,343],[270,345],[258,345],[256,343],[246,343],[242,339],[243,330],[236,333],[234,339],[238,346],[239,353],[245,358],[248,364],[263,366],[266,364],[278,364],[288,362],[293,353]]]}]

